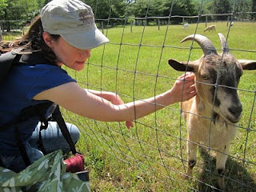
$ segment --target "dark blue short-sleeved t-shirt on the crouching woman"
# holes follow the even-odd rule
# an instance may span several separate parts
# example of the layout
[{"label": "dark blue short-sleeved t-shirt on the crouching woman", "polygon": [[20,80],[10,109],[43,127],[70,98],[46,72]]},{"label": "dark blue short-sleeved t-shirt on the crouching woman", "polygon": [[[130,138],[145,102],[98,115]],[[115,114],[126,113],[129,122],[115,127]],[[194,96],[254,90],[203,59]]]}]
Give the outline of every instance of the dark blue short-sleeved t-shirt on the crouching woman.
[{"label": "dark blue short-sleeved t-shirt on the crouching woman", "polygon": [[[0,126],[17,118],[22,109],[48,102],[34,100],[36,94],[67,82],[76,81],[59,66],[48,64],[14,66],[7,78],[0,83]],[[47,110],[46,116],[53,112],[52,108]],[[33,117],[29,121],[18,124],[21,139],[25,144],[30,139],[38,122],[38,117]],[[20,153],[16,142],[14,126],[0,131],[1,154]]]}]

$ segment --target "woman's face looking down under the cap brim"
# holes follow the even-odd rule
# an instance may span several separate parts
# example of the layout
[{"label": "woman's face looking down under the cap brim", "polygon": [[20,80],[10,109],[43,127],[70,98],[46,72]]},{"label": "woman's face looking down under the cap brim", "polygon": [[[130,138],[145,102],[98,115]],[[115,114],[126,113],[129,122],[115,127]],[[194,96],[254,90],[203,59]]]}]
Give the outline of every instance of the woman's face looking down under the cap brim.
[{"label": "woman's face looking down under the cap brim", "polygon": [[54,51],[54,54],[58,59],[58,66],[64,64],[70,69],[77,71],[82,70],[85,66],[86,59],[90,58],[91,50],[80,50],[75,48],[62,37],[57,40],[52,40],[50,48]]}]

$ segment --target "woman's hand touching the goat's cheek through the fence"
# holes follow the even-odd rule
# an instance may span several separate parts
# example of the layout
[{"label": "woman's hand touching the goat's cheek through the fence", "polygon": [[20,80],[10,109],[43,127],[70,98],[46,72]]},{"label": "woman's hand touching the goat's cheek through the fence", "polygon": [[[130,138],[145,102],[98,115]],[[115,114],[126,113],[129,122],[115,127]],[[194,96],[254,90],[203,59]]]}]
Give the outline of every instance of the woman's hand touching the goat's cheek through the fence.
[{"label": "woman's hand touching the goat's cheek through the fence", "polygon": [[193,98],[196,95],[194,86],[194,74],[186,73],[178,77],[171,91],[174,94],[174,102],[182,102]]}]

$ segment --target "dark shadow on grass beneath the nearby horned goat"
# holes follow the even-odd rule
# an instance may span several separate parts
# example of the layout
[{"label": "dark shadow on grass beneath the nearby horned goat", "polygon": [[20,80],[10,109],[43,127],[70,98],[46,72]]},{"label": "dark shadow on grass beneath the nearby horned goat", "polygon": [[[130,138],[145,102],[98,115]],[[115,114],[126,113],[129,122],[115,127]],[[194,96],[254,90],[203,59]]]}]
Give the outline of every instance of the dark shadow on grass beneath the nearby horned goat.
[{"label": "dark shadow on grass beneath the nearby horned goat", "polygon": [[[226,161],[225,189],[216,189],[218,183],[218,173],[216,159],[205,150],[200,149],[202,161],[202,173],[198,178],[199,182],[195,189],[203,192],[225,191],[225,192],[253,192],[256,191],[256,183],[250,173],[238,161],[228,158]],[[214,187],[213,187],[214,186]]]}]

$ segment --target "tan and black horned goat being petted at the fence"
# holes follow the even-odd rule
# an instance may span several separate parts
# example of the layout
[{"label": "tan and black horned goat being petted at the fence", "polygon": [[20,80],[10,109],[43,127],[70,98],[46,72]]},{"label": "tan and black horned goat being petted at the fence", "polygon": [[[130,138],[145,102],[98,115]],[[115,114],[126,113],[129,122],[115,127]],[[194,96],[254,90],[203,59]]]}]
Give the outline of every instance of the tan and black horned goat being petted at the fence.
[{"label": "tan and black horned goat being petted at the fence", "polygon": [[192,34],[181,42],[193,40],[201,46],[203,55],[193,62],[177,62],[170,59],[169,65],[178,71],[192,71],[195,74],[197,95],[189,101],[181,102],[182,116],[187,126],[187,176],[192,176],[196,164],[198,145],[212,149],[216,153],[218,188],[224,188],[226,159],[230,142],[237,132],[237,124],[242,116],[242,104],[237,87],[242,70],[256,70],[256,61],[236,60],[226,38],[218,34],[222,44],[222,54],[201,34]]}]

